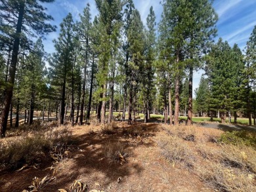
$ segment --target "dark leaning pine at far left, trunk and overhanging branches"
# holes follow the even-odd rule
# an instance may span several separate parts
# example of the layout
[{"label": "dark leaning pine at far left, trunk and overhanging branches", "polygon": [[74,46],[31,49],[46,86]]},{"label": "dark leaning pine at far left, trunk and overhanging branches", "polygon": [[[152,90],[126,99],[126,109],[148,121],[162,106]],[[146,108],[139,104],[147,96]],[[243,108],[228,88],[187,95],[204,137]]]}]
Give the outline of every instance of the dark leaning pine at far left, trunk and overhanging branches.
[{"label": "dark leaning pine at far left, trunk and overhanging branches", "polygon": [[[9,115],[9,108],[12,100],[12,90],[14,86],[15,73],[16,73],[16,64],[18,62],[18,50],[20,46],[21,33],[23,32],[30,37],[34,37],[35,33],[43,35],[45,33],[49,33],[54,31],[55,27],[51,26],[51,24],[46,24],[45,21],[53,20],[53,18],[47,14],[45,14],[45,8],[39,3],[45,2],[50,3],[53,0],[15,0],[15,1],[1,1],[0,2],[0,18],[1,18],[1,26],[13,26],[12,31],[14,35],[11,36],[12,43],[12,56],[10,62],[10,70],[9,70],[9,85],[6,90],[6,96],[4,101],[4,109],[1,114],[1,128],[0,135],[1,137],[5,137],[5,131],[7,128],[7,119]],[[18,18],[18,20],[16,19]],[[1,37],[8,36],[5,28],[1,28]],[[34,33],[35,32],[35,33]]]}]

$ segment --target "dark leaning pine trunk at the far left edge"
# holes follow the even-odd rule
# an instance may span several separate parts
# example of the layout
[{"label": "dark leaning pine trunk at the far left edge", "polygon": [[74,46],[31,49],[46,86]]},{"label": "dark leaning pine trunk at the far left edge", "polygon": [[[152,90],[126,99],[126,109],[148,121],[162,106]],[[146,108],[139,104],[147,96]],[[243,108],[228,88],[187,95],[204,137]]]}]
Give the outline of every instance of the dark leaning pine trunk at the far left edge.
[{"label": "dark leaning pine trunk at the far left edge", "polygon": [[11,60],[11,66],[9,70],[9,86],[7,87],[6,90],[6,95],[5,95],[5,100],[3,102],[4,104],[4,109],[1,115],[0,119],[0,137],[4,138],[5,137],[5,132],[7,129],[7,121],[8,121],[8,116],[9,116],[9,109],[11,106],[11,100],[12,100],[12,91],[13,91],[13,86],[14,86],[14,80],[15,80],[15,73],[16,73],[16,64],[18,62],[18,49],[20,46],[20,34],[22,31],[22,20],[24,17],[24,8],[25,8],[25,3],[24,1],[20,1],[20,7],[19,7],[19,12],[18,12],[18,22],[16,26],[16,33],[14,35],[14,44],[13,44],[13,49],[12,49],[12,60]]}]

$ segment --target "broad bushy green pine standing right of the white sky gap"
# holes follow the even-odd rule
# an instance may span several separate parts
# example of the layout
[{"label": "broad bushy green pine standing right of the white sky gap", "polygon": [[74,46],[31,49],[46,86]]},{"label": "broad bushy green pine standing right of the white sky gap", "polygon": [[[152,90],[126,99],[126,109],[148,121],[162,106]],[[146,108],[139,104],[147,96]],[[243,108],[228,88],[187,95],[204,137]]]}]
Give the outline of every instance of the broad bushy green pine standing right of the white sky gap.
[{"label": "broad bushy green pine standing right of the white sky gap", "polygon": [[225,122],[226,113],[234,109],[234,91],[237,66],[233,63],[232,48],[220,38],[211,48],[207,62],[207,75],[211,85],[211,109],[221,112],[221,121]]}]

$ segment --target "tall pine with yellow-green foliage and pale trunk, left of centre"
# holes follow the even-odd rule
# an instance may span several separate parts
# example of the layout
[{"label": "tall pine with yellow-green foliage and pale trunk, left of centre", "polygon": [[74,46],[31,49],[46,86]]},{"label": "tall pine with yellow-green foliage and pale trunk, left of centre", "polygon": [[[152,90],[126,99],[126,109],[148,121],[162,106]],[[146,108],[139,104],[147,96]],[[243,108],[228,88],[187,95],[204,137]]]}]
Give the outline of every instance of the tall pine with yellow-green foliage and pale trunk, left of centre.
[{"label": "tall pine with yellow-green foliage and pale trunk, left of centre", "polygon": [[125,5],[125,1],[121,0],[96,0],[96,7],[98,9],[98,23],[100,31],[100,45],[98,47],[98,69],[99,73],[97,75],[98,83],[100,84],[102,92],[102,107],[101,107],[101,117],[100,122],[105,123],[105,113],[106,113],[106,91],[107,91],[107,81],[109,64],[112,60],[112,54],[116,52],[120,29],[121,29],[121,10]]}]

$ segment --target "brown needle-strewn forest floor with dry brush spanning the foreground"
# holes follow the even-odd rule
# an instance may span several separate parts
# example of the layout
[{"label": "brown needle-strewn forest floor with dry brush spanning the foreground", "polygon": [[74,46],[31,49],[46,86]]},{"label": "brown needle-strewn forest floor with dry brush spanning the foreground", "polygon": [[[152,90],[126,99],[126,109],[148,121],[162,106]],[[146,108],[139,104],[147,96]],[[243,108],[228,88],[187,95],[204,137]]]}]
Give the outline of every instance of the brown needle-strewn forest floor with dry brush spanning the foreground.
[{"label": "brown needle-strewn forest floor with dry brush spanning the foreground", "polygon": [[36,167],[2,168],[0,191],[256,191],[255,148],[226,144],[221,130],[154,123],[66,128],[72,142],[52,142]]}]

